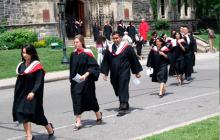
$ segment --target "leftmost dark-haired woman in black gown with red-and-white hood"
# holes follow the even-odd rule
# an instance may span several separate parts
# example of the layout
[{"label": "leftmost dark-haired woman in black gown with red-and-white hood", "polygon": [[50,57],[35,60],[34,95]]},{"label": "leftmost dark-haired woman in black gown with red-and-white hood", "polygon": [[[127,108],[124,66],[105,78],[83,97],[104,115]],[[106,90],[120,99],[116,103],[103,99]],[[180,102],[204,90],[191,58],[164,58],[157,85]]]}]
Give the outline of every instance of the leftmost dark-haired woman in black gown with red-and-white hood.
[{"label": "leftmost dark-haired woman in black gown with red-and-white hood", "polygon": [[31,122],[47,129],[49,138],[54,134],[53,125],[48,123],[43,109],[44,69],[33,45],[21,49],[22,62],[18,64],[18,74],[14,90],[13,121],[23,123],[26,140],[34,139]]}]

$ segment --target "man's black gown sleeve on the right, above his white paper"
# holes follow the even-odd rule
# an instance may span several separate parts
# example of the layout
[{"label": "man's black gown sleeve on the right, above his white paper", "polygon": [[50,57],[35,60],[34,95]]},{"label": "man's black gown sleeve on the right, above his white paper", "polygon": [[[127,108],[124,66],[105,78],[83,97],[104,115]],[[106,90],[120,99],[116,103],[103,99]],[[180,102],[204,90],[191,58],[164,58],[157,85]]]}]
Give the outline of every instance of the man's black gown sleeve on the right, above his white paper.
[{"label": "man's black gown sleeve on the right, above his white paper", "polygon": [[138,74],[139,72],[141,72],[143,70],[138,58],[137,58],[137,55],[136,53],[134,52],[134,49],[129,46],[128,47],[128,53],[129,53],[129,61],[130,61],[130,64],[131,64],[131,71],[133,74]]}]

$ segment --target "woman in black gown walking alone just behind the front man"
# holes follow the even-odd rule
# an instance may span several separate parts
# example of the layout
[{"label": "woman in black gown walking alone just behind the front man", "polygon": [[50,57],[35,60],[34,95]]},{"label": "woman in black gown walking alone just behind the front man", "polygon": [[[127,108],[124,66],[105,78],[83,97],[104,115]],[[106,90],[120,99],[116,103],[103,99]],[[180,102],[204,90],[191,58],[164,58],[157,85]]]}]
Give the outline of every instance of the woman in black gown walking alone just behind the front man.
[{"label": "woman in black gown walking alone just behind the front man", "polygon": [[168,79],[170,49],[165,46],[161,38],[156,39],[156,46],[152,47],[147,59],[147,67],[153,68],[152,82],[160,83],[159,97],[163,97],[166,91],[165,84]]}]

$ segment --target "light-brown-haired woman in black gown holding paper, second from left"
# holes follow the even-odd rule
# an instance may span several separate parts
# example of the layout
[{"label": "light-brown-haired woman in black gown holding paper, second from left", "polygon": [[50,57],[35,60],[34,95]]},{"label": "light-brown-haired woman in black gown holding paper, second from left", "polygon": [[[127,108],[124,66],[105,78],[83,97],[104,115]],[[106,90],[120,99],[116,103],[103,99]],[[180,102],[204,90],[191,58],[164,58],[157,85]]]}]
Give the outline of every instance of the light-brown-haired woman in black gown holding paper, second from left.
[{"label": "light-brown-haired woman in black gown holding paper, second from left", "polygon": [[[70,56],[70,83],[73,111],[76,116],[74,130],[79,130],[82,126],[81,114],[84,111],[94,111],[96,122],[102,122],[102,113],[99,112],[95,93],[95,81],[98,80],[100,68],[92,51],[85,48],[82,35],[75,36],[74,45],[75,51]],[[78,78],[75,77],[77,74],[80,75]]]}]

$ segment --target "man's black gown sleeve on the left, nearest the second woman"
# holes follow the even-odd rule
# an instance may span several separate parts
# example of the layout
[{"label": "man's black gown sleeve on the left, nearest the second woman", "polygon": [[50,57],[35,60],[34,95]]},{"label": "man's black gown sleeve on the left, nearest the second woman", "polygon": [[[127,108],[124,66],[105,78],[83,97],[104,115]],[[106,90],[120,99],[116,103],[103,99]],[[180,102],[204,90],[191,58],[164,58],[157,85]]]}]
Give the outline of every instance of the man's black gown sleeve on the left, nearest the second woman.
[{"label": "man's black gown sleeve on the left, nearest the second woman", "polygon": [[108,48],[106,48],[105,55],[104,55],[102,63],[101,63],[101,73],[103,73],[105,75],[108,75],[109,69],[110,69],[109,55],[110,55],[110,52],[109,52]]}]

